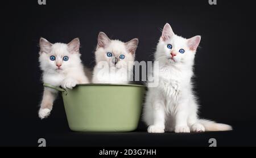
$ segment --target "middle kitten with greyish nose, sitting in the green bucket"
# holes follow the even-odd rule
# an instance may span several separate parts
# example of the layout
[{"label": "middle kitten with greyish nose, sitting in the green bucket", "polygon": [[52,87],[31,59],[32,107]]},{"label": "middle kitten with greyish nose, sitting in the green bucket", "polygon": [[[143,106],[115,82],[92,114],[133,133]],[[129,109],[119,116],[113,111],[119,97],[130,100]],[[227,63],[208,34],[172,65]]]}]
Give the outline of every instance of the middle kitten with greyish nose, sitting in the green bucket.
[{"label": "middle kitten with greyish nose, sitting in the green bucket", "polygon": [[122,42],[110,40],[105,33],[98,35],[95,52],[96,66],[93,83],[127,84],[133,79],[133,65],[138,39]]}]

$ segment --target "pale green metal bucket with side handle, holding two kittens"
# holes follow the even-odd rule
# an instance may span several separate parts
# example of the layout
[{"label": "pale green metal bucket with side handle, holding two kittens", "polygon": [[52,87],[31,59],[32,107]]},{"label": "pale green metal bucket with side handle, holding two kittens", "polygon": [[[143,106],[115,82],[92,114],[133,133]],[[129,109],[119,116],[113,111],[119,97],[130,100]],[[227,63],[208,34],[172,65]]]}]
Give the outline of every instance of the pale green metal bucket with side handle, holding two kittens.
[{"label": "pale green metal bucket with side handle, holding two kittens", "polygon": [[78,84],[61,91],[72,131],[127,132],[137,129],[145,86],[135,84]]}]

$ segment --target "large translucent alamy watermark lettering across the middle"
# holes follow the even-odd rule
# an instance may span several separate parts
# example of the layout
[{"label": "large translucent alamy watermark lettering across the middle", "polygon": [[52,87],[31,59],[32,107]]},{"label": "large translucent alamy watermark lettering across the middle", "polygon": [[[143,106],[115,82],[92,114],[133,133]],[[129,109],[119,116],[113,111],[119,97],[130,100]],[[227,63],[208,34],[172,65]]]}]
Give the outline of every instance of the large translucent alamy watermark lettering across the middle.
[{"label": "large translucent alamy watermark lettering across the middle", "polygon": [[101,61],[97,63],[96,68],[98,69],[96,78],[99,82],[102,82],[104,79],[117,79],[119,82],[139,81],[147,82],[147,87],[157,87],[159,83],[158,61],[119,61],[116,64],[113,62]]}]

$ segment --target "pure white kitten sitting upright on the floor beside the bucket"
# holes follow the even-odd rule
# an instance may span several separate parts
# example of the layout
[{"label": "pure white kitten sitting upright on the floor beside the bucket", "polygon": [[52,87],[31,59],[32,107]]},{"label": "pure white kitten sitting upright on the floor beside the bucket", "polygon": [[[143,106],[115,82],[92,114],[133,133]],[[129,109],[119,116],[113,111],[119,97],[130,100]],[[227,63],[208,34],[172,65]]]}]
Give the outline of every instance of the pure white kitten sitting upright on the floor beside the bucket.
[{"label": "pure white kitten sitting upright on the floor beside the bucket", "polygon": [[155,53],[159,62],[157,87],[148,88],[143,119],[148,133],[175,133],[232,130],[229,125],[197,117],[199,105],[192,91],[193,63],[200,36],[184,39],[172,31],[170,24],[163,28]]}]

